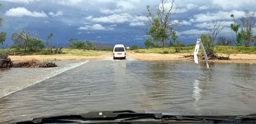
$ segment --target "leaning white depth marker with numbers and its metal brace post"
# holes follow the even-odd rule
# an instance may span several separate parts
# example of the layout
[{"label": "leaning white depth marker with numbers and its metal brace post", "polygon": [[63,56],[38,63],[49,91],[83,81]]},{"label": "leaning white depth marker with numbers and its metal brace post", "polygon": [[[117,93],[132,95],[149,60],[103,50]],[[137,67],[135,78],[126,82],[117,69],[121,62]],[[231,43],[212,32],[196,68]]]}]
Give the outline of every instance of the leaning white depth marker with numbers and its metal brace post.
[{"label": "leaning white depth marker with numbers and its metal brace post", "polygon": [[195,63],[198,64],[197,54],[198,54],[199,47],[201,47],[201,49],[203,51],[204,59],[206,61],[206,66],[207,66],[207,68],[209,69],[209,72],[210,72],[210,66],[209,66],[209,63],[208,63],[208,57],[207,57],[206,52],[204,50],[204,46],[203,46],[201,38],[196,40],[196,47],[195,47],[195,51],[194,51]]}]

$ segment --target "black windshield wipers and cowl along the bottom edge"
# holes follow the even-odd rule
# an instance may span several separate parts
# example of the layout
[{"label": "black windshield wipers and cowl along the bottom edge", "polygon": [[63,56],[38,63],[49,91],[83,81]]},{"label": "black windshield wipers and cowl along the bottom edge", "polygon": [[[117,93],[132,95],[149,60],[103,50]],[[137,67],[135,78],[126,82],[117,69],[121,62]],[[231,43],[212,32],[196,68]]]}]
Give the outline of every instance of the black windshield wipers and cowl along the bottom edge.
[{"label": "black windshield wipers and cowl along the bottom edge", "polygon": [[12,122],[11,124],[109,124],[109,123],[218,123],[218,122],[255,122],[256,114],[246,116],[183,116],[162,113],[136,113],[133,111],[102,111],[73,115],[60,115],[34,118],[33,120]]}]

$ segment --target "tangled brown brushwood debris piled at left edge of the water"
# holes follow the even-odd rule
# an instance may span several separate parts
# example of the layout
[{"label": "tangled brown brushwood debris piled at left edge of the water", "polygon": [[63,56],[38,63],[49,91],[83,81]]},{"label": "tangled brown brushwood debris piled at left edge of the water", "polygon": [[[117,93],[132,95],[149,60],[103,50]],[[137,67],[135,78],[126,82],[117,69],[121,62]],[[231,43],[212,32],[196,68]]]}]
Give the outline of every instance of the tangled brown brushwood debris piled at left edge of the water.
[{"label": "tangled brown brushwood debris piled at left edge of the water", "polygon": [[56,60],[54,62],[50,61],[44,61],[40,62],[37,60],[28,60],[25,62],[12,62],[10,57],[6,54],[0,54],[0,68],[19,68],[19,67],[25,67],[25,68],[36,68],[36,67],[57,67],[58,65],[55,64]]}]

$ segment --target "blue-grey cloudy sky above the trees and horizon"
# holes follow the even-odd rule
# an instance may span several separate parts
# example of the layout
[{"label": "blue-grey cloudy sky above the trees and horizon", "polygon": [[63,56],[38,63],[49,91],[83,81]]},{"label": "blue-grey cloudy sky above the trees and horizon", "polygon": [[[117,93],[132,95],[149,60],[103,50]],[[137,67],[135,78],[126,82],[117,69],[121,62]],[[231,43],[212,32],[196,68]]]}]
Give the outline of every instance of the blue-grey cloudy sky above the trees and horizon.
[{"label": "blue-grey cloudy sky above the trees and horizon", "polygon": [[[74,38],[112,46],[144,47],[150,36],[144,32],[148,19],[141,14],[147,11],[147,5],[157,8],[160,0],[0,0],[0,3],[0,18],[4,20],[0,31],[7,32],[4,44],[8,46],[14,45],[12,33],[24,29],[32,36],[38,34],[44,42],[53,33],[51,42],[55,45],[58,42],[59,46],[68,46],[68,40]],[[232,37],[230,15],[234,14],[236,23],[241,24],[244,9],[256,11],[255,5],[256,0],[175,0],[178,11],[171,19],[183,26],[173,30],[180,43],[195,44],[202,33],[208,33],[211,20],[218,18],[226,26],[218,36]],[[165,6],[170,6],[169,0]]]}]

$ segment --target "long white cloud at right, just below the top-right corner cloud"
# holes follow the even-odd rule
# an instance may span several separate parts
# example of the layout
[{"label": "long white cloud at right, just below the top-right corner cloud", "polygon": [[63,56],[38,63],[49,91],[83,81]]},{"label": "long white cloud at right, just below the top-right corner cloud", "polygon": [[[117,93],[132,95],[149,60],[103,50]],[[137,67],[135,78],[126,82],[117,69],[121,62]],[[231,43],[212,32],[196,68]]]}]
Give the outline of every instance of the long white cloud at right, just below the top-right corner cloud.
[{"label": "long white cloud at right, just below the top-right corner cloud", "polygon": [[244,11],[233,10],[233,11],[219,11],[217,13],[210,13],[210,12],[200,13],[200,14],[194,15],[193,16],[194,18],[191,18],[189,21],[190,22],[207,22],[216,18],[218,18],[219,20],[225,20],[225,19],[232,20],[232,18],[230,17],[231,14],[234,14],[236,18],[241,18],[242,16],[244,16]]}]

